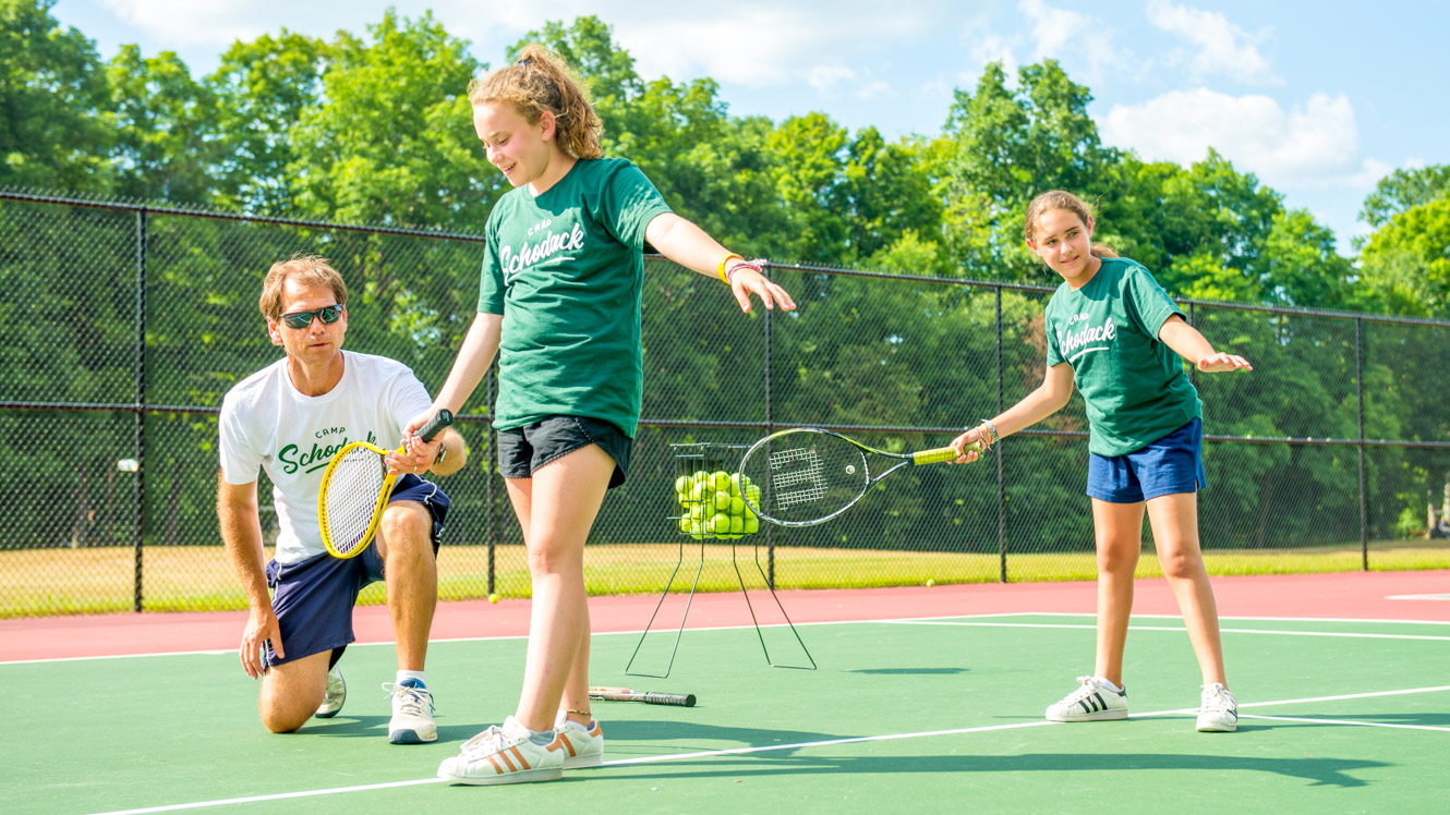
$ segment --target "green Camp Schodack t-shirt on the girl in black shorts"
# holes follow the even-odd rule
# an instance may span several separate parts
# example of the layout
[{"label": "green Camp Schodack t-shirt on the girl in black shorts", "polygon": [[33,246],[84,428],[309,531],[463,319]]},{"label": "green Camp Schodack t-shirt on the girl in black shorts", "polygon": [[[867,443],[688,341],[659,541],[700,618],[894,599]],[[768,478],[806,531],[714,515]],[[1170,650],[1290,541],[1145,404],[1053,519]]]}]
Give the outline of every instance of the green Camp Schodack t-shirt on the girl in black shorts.
[{"label": "green Camp Schodack t-shirt on the girl in black shorts", "polygon": [[535,197],[509,190],[486,231],[478,310],[503,315],[494,426],[589,416],[631,438],[644,360],[644,231],[670,212],[631,161],[579,160]]}]

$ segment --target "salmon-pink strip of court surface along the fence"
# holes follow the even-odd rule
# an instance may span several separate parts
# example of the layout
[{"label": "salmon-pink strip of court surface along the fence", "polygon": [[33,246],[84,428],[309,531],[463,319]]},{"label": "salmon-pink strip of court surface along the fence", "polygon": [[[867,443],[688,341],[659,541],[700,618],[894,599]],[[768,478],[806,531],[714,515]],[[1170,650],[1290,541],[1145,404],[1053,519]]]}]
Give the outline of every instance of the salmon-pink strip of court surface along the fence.
[{"label": "salmon-pink strip of court surface along the fence", "polygon": [[[1337,574],[1270,574],[1215,577],[1221,616],[1353,618],[1450,622],[1450,570],[1369,571]],[[985,613],[1092,613],[1096,583],[972,583],[931,587],[780,592],[796,624],[967,616]],[[767,593],[751,590],[761,622],[779,622]],[[657,596],[592,597],[596,632],[639,631]],[[680,622],[683,600],[671,597],[654,629]],[[1161,579],[1138,580],[1137,615],[1176,615],[1177,605]],[[522,637],[528,634],[528,600],[439,603],[434,640]],[[0,661],[235,650],[246,612],[116,613],[0,619]],[[750,608],[738,592],[696,595],[686,628],[750,625]],[[386,606],[360,606],[354,613],[358,642],[392,642]]]}]

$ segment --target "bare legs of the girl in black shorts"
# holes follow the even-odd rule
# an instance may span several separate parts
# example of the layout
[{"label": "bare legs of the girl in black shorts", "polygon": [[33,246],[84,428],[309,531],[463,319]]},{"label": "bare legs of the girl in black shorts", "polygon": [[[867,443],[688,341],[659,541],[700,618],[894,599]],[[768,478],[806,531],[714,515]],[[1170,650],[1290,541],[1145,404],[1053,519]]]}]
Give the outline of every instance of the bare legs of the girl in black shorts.
[{"label": "bare legs of the girl in black shorts", "polygon": [[535,470],[532,479],[506,480],[534,580],[523,693],[515,712],[532,731],[552,729],[566,687],[568,705],[587,709],[584,541],[613,470],[615,460],[592,444]]}]

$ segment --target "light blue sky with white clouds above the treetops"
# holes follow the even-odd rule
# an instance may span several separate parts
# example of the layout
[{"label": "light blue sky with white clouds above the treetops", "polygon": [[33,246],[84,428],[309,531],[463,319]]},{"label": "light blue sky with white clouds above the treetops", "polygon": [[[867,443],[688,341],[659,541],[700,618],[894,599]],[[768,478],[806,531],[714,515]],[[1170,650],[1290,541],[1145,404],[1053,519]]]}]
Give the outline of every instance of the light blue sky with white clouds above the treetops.
[{"label": "light blue sky with white clouds above the treetops", "polygon": [[890,138],[937,133],[953,88],[989,61],[1011,73],[1056,58],[1092,88],[1105,142],[1179,164],[1212,145],[1331,226],[1346,254],[1375,181],[1450,162],[1450,0],[59,0],[52,13],[102,58],[138,44],[202,75],[235,39],[362,33],[390,4],[431,7],[494,64],[545,20],[597,15],[645,78],[712,77],[734,115],[821,110]]}]

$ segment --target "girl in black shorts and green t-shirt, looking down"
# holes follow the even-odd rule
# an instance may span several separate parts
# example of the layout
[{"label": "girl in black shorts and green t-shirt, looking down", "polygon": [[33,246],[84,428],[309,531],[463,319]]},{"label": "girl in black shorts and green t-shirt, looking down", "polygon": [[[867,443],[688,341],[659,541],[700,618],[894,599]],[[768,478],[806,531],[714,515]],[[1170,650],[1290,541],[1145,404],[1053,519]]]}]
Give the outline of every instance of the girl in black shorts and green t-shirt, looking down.
[{"label": "girl in black shorts and green t-shirt, looking down", "polygon": [[[478,315],[434,408],[409,428],[439,408],[458,412],[499,355],[493,425],[534,605],[515,713],[438,769],[467,785],[557,779],[603,753],[589,708],[583,557],[639,421],[645,242],[719,277],[744,312],[751,294],[795,307],[760,265],[670,212],[638,167],[602,155],[600,120],[557,57],[539,46],[519,57],[468,90],[478,141],[513,190],[489,216]],[[429,455],[425,444],[410,450]]]}]

